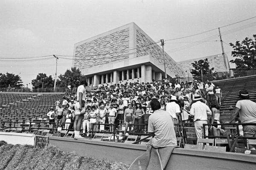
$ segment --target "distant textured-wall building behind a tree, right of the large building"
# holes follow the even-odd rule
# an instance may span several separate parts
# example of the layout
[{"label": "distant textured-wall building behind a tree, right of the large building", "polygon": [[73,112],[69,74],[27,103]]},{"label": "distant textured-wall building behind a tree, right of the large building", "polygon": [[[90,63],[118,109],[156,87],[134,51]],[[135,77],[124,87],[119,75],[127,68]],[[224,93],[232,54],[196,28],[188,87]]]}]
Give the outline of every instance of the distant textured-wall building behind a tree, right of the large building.
[{"label": "distant textured-wall building behind a tree, right of the large building", "polygon": [[[230,65],[227,59],[227,54],[224,56],[222,54],[217,54],[217,55],[212,55],[212,56],[207,56],[207,57],[201,57],[201,58],[196,58],[196,59],[188,59],[185,61],[177,62],[178,65],[180,65],[181,68],[185,71],[189,71],[189,76],[192,76],[190,74],[190,70],[193,69],[192,67],[192,62],[198,61],[200,59],[208,59],[210,68],[214,68],[213,72],[224,72],[224,71],[229,71],[230,70]],[[186,75],[187,77],[187,75]]]}]

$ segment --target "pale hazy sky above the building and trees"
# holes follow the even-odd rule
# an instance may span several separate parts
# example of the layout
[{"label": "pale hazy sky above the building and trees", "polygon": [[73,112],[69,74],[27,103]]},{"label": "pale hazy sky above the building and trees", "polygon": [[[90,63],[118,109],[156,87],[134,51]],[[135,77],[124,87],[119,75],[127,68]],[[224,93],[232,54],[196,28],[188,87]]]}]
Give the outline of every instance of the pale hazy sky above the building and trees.
[{"label": "pale hazy sky above the building and trees", "polygon": [[[0,73],[18,74],[31,88],[38,73],[55,76],[53,54],[72,56],[76,42],[131,22],[165,40],[176,62],[221,54],[221,27],[230,60],[228,44],[256,34],[256,18],[246,20],[255,7],[255,0],[0,0]],[[71,59],[58,59],[57,75],[71,67]]]}]

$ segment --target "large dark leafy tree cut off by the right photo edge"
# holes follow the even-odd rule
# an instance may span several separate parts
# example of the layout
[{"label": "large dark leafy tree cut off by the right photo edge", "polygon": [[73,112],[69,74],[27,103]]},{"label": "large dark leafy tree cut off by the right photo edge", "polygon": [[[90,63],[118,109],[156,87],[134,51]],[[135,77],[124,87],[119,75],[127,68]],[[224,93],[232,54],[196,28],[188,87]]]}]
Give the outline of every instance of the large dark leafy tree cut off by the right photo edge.
[{"label": "large dark leafy tree cut off by the right photo edge", "polygon": [[232,56],[236,59],[230,60],[236,64],[236,70],[255,70],[256,69],[256,34],[253,39],[246,37],[244,40],[236,41],[232,46]]}]

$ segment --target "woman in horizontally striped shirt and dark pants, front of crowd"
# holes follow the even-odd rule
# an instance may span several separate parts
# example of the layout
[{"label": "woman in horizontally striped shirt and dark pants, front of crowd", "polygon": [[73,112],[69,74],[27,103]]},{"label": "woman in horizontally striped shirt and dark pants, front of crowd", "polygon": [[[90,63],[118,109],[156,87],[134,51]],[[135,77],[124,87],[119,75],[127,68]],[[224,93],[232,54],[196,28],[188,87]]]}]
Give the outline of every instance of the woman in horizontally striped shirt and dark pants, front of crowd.
[{"label": "woman in horizontally striped shirt and dark pants, front of crowd", "polygon": [[143,119],[142,116],[145,114],[140,102],[136,102],[135,111],[134,111],[134,124],[137,124],[134,126],[134,132],[135,133],[142,133],[142,124]]}]

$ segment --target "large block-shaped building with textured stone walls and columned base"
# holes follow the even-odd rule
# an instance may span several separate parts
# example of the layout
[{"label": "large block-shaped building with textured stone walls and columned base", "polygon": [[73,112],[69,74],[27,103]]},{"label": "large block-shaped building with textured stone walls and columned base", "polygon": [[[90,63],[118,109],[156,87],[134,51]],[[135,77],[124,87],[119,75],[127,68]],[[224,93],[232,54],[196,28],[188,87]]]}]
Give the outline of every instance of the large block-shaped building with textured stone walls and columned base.
[{"label": "large block-shaped building with textured stone walls and columned base", "polygon": [[[164,78],[163,50],[135,23],[113,29],[74,48],[74,66],[89,77],[89,85],[151,82]],[[184,71],[165,53],[168,77]]]}]

